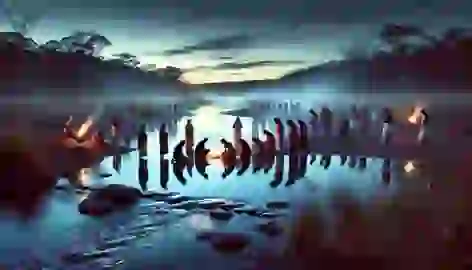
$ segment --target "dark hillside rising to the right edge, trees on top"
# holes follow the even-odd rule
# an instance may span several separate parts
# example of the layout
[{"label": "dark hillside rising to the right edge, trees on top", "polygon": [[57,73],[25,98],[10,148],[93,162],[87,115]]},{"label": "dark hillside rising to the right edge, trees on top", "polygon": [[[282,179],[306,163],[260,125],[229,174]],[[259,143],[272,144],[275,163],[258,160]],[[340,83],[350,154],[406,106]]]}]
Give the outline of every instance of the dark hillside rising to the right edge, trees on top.
[{"label": "dark hillside rising to the right edge, trees on top", "polygon": [[428,36],[428,43],[418,46],[400,43],[399,40],[414,35],[425,36],[422,32],[420,34],[419,29],[401,25],[387,25],[385,28],[390,31],[384,33],[387,35],[386,39],[389,38],[391,43],[397,42],[391,44],[393,48],[390,51],[379,51],[370,56],[357,56],[312,66],[275,80],[213,83],[204,87],[229,91],[244,91],[250,88],[274,91],[329,91],[326,88],[333,88],[347,92],[471,91],[470,30],[449,29],[440,38]]}]

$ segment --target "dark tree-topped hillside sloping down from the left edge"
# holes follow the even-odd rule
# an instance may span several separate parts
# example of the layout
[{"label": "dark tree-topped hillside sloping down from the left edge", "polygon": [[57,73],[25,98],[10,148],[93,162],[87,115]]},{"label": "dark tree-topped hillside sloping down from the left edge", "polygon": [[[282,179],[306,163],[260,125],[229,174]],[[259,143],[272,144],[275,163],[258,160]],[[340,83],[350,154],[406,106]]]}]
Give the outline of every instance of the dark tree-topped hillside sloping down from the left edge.
[{"label": "dark tree-topped hillside sloping down from the left edge", "polygon": [[56,47],[52,43],[37,45],[20,33],[0,33],[0,96],[100,95],[122,89],[126,93],[152,93],[162,87],[178,93],[186,89],[177,68],[144,70],[139,68],[139,61],[130,63],[124,54],[105,60],[81,49],[87,48],[87,43],[73,43],[75,47],[68,49],[59,47],[60,42]]}]

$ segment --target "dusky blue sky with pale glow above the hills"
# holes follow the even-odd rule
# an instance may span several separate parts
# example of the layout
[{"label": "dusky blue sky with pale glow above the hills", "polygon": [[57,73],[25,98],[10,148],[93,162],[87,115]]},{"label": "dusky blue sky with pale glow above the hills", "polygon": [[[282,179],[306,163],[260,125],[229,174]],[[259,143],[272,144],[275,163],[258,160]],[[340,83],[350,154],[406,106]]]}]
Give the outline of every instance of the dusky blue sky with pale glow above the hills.
[{"label": "dusky blue sky with pale glow above the hills", "polygon": [[[40,14],[39,42],[96,30],[141,62],[187,70],[191,83],[274,78],[375,47],[384,22],[467,26],[470,0],[12,0]],[[471,2],[471,3],[469,3]],[[1,29],[11,28],[2,16]]]}]

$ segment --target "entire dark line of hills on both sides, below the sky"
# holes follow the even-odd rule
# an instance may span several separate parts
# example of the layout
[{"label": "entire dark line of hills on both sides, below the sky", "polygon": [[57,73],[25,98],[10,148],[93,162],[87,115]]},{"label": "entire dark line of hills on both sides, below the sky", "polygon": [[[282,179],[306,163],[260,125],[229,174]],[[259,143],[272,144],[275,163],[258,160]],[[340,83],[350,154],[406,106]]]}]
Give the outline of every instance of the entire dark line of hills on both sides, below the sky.
[{"label": "entire dark line of hills on both sides, below the sky", "polygon": [[[34,94],[189,93],[247,91],[464,92],[472,85],[472,31],[448,29],[432,37],[421,29],[387,24],[380,33],[388,50],[297,70],[279,79],[191,85],[176,67],[142,69],[129,53],[99,56],[111,44],[97,33],[78,32],[37,44],[16,32],[0,32],[0,96]],[[422,39],[421,45],[411,42]],[[45,90],[47,89],[47,90]]]}]

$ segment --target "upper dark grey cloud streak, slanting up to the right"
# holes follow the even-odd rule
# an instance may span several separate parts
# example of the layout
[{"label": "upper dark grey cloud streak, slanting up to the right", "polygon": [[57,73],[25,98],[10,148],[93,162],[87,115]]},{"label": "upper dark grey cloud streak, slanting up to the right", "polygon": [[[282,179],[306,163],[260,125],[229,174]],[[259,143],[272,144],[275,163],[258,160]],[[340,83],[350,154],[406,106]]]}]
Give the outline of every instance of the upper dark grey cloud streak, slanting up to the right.
[{"label": "upper dark grey cloud streak, slanting up to the right", "polygon": [[251,47],[252,40],[247,34],[235,34],[228,36],[221,36],[211,39],[205,39],[192,45],[183,46],[178,49],[170,49],[161,52],[148,52],[147,55],[162,55],[162,56],[174,56],[174,55],[186,55],[192,54],[199,51],[221,51],[230,49],[244,49]]}]

